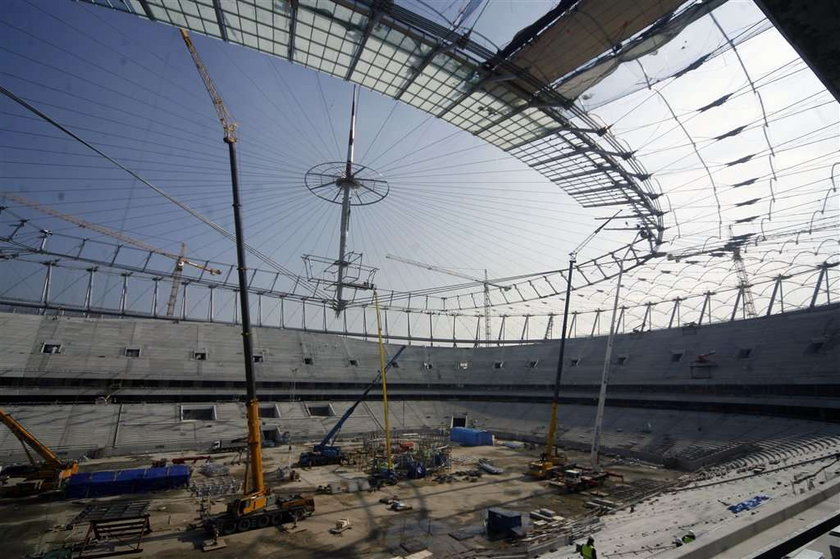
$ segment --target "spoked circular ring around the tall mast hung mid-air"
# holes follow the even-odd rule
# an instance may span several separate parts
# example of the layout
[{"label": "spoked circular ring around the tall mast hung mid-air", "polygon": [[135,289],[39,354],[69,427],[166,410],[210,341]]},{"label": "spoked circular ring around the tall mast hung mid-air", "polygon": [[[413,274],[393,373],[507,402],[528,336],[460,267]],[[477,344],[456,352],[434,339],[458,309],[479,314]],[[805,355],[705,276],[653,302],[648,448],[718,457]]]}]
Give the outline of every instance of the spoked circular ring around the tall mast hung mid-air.
[{"label": "spoked circular ring around the tall mast hung mid-air", "polygon": [[351,206],[369,206],[388,195],[391,187],[384,177],[370,167],[333,161],[319,163],[306,172],[304,184],[309,192],[327,202],[341,204],[344,190],[349,190]]}]

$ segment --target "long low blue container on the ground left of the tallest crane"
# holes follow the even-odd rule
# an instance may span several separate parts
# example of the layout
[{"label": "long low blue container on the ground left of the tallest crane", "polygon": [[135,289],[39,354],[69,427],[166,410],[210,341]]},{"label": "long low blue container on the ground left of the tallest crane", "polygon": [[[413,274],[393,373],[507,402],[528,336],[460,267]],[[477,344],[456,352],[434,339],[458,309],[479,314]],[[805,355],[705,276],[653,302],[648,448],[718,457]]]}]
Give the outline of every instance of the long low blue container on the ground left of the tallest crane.
[{"label": "long low blue container on the ground left of the tallest crane", "polygon": [[108,497],[177,489],[185,487],[189,482],[190,469],[185,465],[92,472],[71,476],[64,494],[70,499]]}]

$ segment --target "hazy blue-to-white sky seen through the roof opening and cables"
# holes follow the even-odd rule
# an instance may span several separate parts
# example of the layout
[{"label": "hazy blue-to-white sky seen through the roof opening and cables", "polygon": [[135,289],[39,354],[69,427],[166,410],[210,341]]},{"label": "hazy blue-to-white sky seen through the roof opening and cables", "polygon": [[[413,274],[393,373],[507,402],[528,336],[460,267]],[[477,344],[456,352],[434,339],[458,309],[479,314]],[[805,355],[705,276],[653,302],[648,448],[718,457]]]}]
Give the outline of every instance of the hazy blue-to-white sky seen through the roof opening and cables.
[{"label": "hazy blue-to-white sky seen through the roof opening and cables", "polygon": [[[723,21],[733,33],[755,20],[751,4],[730,4]],[[461,3],[432,5],[452,17]],[[504,44],[520,26],[552,5],[491,2],[475,30],[493,37],[496,44]],[[424,13],[431,15],[428,10]],[[177,30],[82,3],[36,0],[7,2],[0,25],[4,53],[0,57],[0,83],[232,230],[226,147],[210,100]],[[774,33],[762,34],[760,40],[743,46],[748,67],[757,80],[768,74],[772,78],[777,67],[795,62],[789,46]],[[303,254],[335,256],[338,206],[309,193],[303,177],[314,165],[344,158],[350,84],[220,41],[197,35],[193,40],[240,123],[248,242],[301,274]],[[669,61],[673,65],[679,53],[685,52],[686,45],[689,49],[706,48],[715,40],[721,39],[703,28],[689,34],[684,42],[663,48],[659,58],[646,59],[645,63],[653,68],[651,64],[664,60],[668,67]],[[626,68],[629,74],[623,74],[625,83],[643,80],[640,74],[633,75],[633,68]],[[786,107],[792,103],[813,103],[816,108],[800,115],[793,126],[789,124],[793,117],[780,117],[770,127],[755,125],[761,117],[757,113],[759,103],[744,89],[745,77],[731,55],[698,70],[693,74],[696,79],[666,83],[661,94],[643,88],[595,109],[623,141],[639,150],[647,168],[657,171],[655,179],[673,210],[668,217],[669,235],[675,241],[672,246],[702,245],[717,235],[718,229],[708,173],[673,121],[672,111],[688,123],[692,139],[699,141],[701,153],[713,167],[712,176],[719,181],[721,196],[728,204],[728,222],[749,217],[753,207],[737,204],[753,197],[762,199],[762,215],[772,215],[778,224],[763,223],[768,231],[774,226],[807,222],[805,214],[813,214],[823,202],[822,193],[830,186],[826,182],[830,160],[824,156],[826,151],[830,153],[832,141],[836,145],[836,134],[832,135],[829,128],[836,121],[836,103],[817,107],[816,102],[825,102],[821,87],[809,72],[792,68],[797,71],[780,74],[784,79],[778,87],[762,90],[762,101],[768,112],[781,111],[781,116],[791,112]],[[698,87],[698,83],[703,86]],[[595,99],[614,87],[614,83],[605,82],[601,90],[594,91]],[[696,114],[698,107],[728,91],[740,95],[726,107],[727,111]],[[171,252],[177,252],[183,242],[196,259],[233,262],[228,240],[123,171],[7,99],[0,100],[0,114],[0,190],[24,193],[58,211]],[[752,124],[744,135],[727,142],[713,141],[716,135],[742,123]],[[828,131],[797,140],[802,135],[800,128],[805,126]],[[736,154],[766,147],[762,146],[763,128],[769,130],[773,144],[793,141],[794,146],[802,147],[772,161],[762,158],[761,163],[751,163],[759,165],[754,169],[727,167]],[[458,283],[445,275],[395,264],[384,258],[389,253],[476,275],[484,268],[491,276],[562,268],[569,250],[597,225],[594,217],[611,213],[580,208],[556,186],[500,150],[367,90],[361,94],[357,142],[358,161],[380,172],[390,182],[391,193],[375,206],[354,210],[350,248],[363,252],[367,264],[381,268],[376,281],[386,288],[414,290]],[[820,156],[823,158],[804,169],[795,167],[809,157]],[[796,208],[787,218],[781,200],[776,202],[775,215],[773,207],[767,207],[766,181],[755,190],[731,188],[742,178],[765,176],[767,167],[774,164],[779,169],[793,166],[791,173],[814,175],[813,180],[809,176],[789,181],[787,187],[783,182],[775,185],[777,192],[789,190],[787,198],[780,198]],[[810,183],[814,184],[808,186]],[[833,211],[836,197],[828,202]],[[32,210],[12,209],[38,226],[82,234],[75,226]],[[758,229],[756,223],[742,227]],[[31,236],[37,236],[37,230],[33,231]],[[676,232],[682,240],[676,239]],[[604,232],[581,256],[611,250],[625,237],[620,232]],[[801,240],[803,244],[808,241],[805,237]],[[821,238],[814,245],[819,242]],[[101,256],[106,255],[103,248]],[[763,270],[759,268],[763,260],[756,264],[757,273]],[[253,257],[250,265],[265,267]],[[42,271],[6,269],[9,272],[3,281],[7,292],[37,297]],[[703,282],[720,284],[731,271],[731,266],[716,266],[708,277],[704,277],[708,270],[702,268],[686,271],[685,277],[691,281],[678,289],[693,293]],[[656,273],[657,269],[652,270],[653,275]],[[119,282],[116,278],[108,282],[113,298]],[[83,287],[84,280],[78,277],[57,280],[56,285],[68,298],[76,299]],[[138,305],[145,305],[149,297],[148,287],[144,289],[135,295]],[[590,307],[605,302],[610,289],[603,286],[600,294],[588,297]],[[638,292],[628,294],[628,300],[641,303],[650,295],[667,297],[671,294],[668,289],[660,287],[657,291],[642,285]],[[193,304],[206,302],[196,300]],[[516,308],[499,305],[497,312],[545,313],[559,304],[555,300]]]}]

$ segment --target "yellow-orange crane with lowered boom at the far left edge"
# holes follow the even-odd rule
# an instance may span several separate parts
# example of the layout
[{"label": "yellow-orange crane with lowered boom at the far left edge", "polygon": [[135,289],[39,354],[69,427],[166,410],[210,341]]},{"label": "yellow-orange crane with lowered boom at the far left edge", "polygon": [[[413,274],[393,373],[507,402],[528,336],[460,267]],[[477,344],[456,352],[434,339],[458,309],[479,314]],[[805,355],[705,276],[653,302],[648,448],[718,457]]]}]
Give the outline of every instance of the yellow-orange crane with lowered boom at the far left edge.
[{"label": "yellow-orange crane with lowered boom at the far left edge", "polygon": [[[0,496],[24,496],[60,489],[62,485],[77,471],[79,464],[75,461],[61,461],[56,454],[44,443],[38,440],[8,412],[0,409],[0,421],[18,438],[23,445],[30,467],[22,468],[18,472],[24,480],[10,487],[3,487]],[[38,462],[32,455],[37,453],[43,462]],[[14,470],[6,469],[4,473],[13,475]],[[15,475],[17,477],[17,475]]]}]

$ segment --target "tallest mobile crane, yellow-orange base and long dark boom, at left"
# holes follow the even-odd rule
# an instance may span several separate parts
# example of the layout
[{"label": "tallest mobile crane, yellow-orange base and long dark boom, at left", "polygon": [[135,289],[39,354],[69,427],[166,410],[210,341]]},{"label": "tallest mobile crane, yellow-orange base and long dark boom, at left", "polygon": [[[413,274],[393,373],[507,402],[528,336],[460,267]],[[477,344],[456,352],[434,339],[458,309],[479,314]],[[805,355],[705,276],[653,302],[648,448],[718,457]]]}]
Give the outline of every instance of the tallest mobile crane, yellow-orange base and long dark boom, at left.
[{"label": "tallest mobile crane, yellow-orange base and long dark boom, at left", "polygon": [[216,114],[224,129],[224,142],[228,146],[230,157],[230,177],[233,192],[233,223],[236,234],[236,260],[239,279],[239,303],[242,313],[242,346],[245,357],[245,385],[247,391],[248,413],[248,466],[245,471],[244,494],[228,504],[227,511],[219,515],[203,515],[204,528],[208,533],[231,534],[254,528],[266,528],[283,522],[298,521],[315,511],[315,502],[311,498],[296,495],[288,499],[270,502],[271,489],[263,478],[262,447],[260,430],[260,406],[257,401],[256,381],[254,378],[254,349],[251,339],[251,315],[248,306],[248,281],[245,263],[245,240],[242,229],[239,200],[239,173],[236,163],[236,122],[233,121],[225,106],[222,96],[216,90],[210,73],[204,66],[192,39],[186,30],[181,29],[181,37],[190,51],[196,69],[204,81],[204,87],[213,101]]}]

